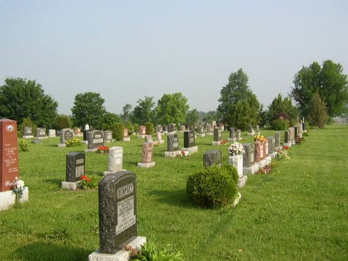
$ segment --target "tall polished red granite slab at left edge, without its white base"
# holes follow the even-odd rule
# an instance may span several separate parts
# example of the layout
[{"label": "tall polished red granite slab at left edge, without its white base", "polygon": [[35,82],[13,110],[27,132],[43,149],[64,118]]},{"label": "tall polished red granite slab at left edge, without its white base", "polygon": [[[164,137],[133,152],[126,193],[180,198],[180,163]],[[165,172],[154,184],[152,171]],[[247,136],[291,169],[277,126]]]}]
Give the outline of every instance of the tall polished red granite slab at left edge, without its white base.
[{"label": "tall polished red granite slab at left edge, without its white base", "polygon": [[0,192],[10,191],[15,177],[19,177],[17,122],[0,120]]}]

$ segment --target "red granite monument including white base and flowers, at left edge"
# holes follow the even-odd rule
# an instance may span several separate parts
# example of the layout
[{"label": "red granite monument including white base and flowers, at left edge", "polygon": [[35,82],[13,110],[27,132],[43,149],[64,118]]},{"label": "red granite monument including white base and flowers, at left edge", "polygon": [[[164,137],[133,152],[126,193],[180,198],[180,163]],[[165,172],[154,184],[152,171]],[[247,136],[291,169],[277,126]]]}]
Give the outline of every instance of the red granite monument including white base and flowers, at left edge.
[{"label": "red granite monument including white base and flowers, at left edge", "polygon": [[[17,186],[19,178],[17,122],[15,120],[0,120],[0,211],[15,205],[16,196],[12,189]],[[29,199],[28,187],[23,187],[19,203]]]}]

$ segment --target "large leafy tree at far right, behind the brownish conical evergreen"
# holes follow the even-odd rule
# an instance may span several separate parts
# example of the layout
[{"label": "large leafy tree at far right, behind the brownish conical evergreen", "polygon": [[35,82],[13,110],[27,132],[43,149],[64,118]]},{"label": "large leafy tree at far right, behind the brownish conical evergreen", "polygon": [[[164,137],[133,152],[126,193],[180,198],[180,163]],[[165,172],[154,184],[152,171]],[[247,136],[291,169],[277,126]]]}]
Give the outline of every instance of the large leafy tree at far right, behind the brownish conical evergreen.
[{"label": "large leafy tree at far right, behind the brownish conical evergreen", "polygon": [[292,97],[299,105],[302,116],[308,116],[308,104],[315,93],[326,103],[330,117],[347,113],[348,81],[340,63],[327,60],[322,66],[317,62],[308,67],[303,66],[295,74],[293,83]]}]

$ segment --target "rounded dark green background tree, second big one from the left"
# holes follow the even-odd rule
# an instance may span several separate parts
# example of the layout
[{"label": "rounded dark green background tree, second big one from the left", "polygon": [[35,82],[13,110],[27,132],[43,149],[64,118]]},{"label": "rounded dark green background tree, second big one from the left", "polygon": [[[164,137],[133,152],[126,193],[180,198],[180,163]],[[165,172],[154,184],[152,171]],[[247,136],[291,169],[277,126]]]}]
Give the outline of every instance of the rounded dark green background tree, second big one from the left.
[{"label": "rounded dark green background tree, second big one from the left", "polygon": [[78,93],[71,109],[74,125],[84,127],[88,124],[95,129],[101,129],[106,113],[104,101],[100,93]]}]

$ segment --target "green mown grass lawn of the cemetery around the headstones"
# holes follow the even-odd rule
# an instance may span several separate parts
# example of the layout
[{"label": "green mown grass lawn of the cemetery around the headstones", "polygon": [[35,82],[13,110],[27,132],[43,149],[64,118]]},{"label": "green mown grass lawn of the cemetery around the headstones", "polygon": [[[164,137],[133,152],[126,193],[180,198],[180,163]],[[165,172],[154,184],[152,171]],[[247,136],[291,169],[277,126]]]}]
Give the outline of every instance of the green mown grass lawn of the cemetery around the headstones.
[{"label": "green mown grass lawn of the cemetery around the headstones", "polygon": [[[238,205],[223,209],[197,207],[186,193],[203,152],[219,149],[228,162],[228,145],[212,146],[212,136],[197,137],[198,153],[187,158],[165,158],[167,144],[155,146],[152,168],[136,166],[143,139],[106,145],[122,146],[123,168],[136,173],[138,235],[173,245],[184,260],[348,260],[348,125],[310,129],[304,138],[290,159],[273,161],[270,174],[248,175]],[[253,137],[243,132],[243,139]],[[86,145],[58,143],[50,138],[19,152],[29,202],[0,212],[0,260],[88,260],[99,248],[97,189],[61,188],[66,155]],[[86,154],[87,176],[102,177],[107,168],[107,154]]]}]

